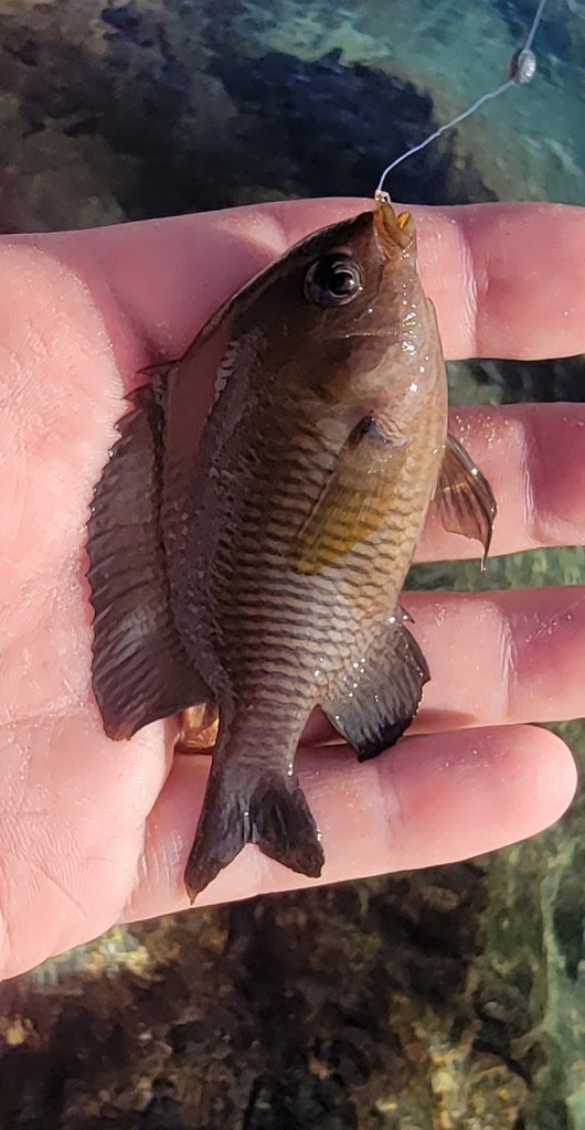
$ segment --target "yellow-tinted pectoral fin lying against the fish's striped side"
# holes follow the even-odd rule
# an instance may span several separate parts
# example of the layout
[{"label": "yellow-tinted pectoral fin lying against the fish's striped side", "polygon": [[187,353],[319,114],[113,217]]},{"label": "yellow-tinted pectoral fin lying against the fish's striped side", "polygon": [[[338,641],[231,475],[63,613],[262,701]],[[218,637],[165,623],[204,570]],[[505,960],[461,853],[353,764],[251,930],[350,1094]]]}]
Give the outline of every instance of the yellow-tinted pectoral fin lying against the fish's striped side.
[{"label": "yellow-tinted pectoral fin lying against the fish's striped side", "polygon": [[378,420],[360,420],[300,530],[292,563],[298,573],[317,573],[381,525],[404,450]]}]

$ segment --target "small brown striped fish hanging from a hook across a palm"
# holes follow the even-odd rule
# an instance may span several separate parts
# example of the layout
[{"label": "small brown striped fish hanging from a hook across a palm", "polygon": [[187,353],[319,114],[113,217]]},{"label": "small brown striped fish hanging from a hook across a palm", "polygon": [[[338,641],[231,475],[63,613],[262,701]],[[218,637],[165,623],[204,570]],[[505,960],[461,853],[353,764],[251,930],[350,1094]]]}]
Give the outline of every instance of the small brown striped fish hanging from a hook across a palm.
[{"label": "small brown striped fish hanging from a hook across a palm", "polygon": [[496,516],[447,431],[413,218],[378,200],[312,233],[149,377],[88,522],[105,732],[178,715],[197,749],[215,729],[191,901],[248,843],[318,877],[307,719],[320,707],[361,760],[401,738],[429,678],[400,605],[429,506],[483,560]]}]

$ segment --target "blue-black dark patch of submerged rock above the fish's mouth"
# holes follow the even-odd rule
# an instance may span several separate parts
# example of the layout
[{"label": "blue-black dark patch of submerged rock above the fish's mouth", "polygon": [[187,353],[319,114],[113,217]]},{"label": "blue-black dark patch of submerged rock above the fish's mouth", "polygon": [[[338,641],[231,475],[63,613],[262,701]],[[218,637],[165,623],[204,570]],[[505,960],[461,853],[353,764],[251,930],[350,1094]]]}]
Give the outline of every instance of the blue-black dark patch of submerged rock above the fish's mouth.
[{"label": "blue-black dark patch of submerged rock above the fish's mouth", "polygon": [[[348,66],[340,51],[315,61],[280,52],[216,55],[210,71],[241,112],[238,153],[248,177],[298,195],[370,195],[388,154],[437,124],[428,94],[377,68]],[[392,191],[405,203],[496,199],[469,164],[454,160],[452,140],[396,168]]]}]

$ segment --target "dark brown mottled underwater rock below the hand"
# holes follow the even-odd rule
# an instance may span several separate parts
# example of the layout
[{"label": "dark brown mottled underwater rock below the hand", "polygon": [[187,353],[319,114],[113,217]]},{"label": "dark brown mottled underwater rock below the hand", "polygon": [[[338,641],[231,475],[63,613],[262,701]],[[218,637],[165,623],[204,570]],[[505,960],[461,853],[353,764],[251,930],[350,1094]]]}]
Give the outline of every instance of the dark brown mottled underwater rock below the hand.
[{"label": "dark brown mottled underwater rock below the hand", "polygon": [[482,910],[462,863],[117,931],[117,970],[96,944],[0,989],[0,1125],[41,1130],[50,1093],[63,1130],[512,1130],[526,1085],[466,988]]}]

